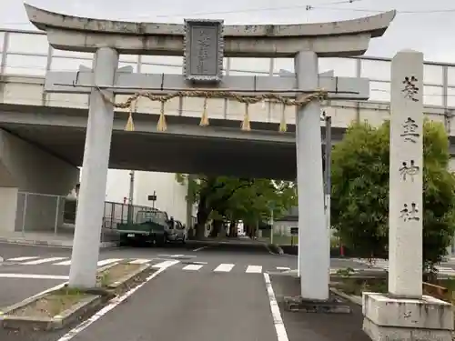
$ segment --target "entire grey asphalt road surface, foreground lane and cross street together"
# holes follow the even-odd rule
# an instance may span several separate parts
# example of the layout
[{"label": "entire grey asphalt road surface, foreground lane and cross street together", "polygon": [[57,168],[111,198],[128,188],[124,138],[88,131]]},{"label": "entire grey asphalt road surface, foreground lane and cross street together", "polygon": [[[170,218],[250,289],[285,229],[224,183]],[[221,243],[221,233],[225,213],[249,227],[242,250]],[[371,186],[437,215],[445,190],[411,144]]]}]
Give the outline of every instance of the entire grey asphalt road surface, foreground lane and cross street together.
[{"label": "entire grey asphalt road surface, foreground lane and cross street together", "polygon": [[[0,329],[2,341],[277,341],[277,312],[271,308],[270,287],[276,291],[278,304],[283,296],[296,295],[298,283],[289,276],[271,276],[271,286],[264,273],[277,273],[280,268],[295,268],[295,256],[271,255],[263,245],[211,244],[207,247],[171,246],[167,248],[118,248],[102,250],[100,260],[142,259],[158,264],[166,259],[179,262],[168,267],[123,303],[96,319],[86,328],[74,326],[53,333],[21,334]],[[35,276],[66,276],[71,253],[68,249],[38,246],[0,245],[0,287],[5,283],[11,291],[31,295],[41,291],[44,279],[16,280],[2,274]],[[22,257],[22,260],[11,258]],[[25,259],[24,257],[31,257]],[[52,262],[45,259],[54,258]],[[57,259],[58,258],[58,259]],[[21,259],[21,258],[19,258]],[[25,265],[26,263],[30,263]],[[337,265],[342,261],[334,260]],[[341,262],[341,263],[340,263]],[[346,265],[344,265],[346,266]],[[15,282],[8,282],[15,281]],[[52,282],[52,281],[51,281]],[[48,282],[55,286],[61,281]],[[24,289],[22,289],[22,287]],[[16,295],[16,294],[14,294]],[[24,294],[17,294],[24,295]],[[352,340],[364,341],[361,313],[350,319],[334,316],[302,316],[281,309],[281,316],[288,331],[288,339],[298,341],[303,336],[314,341]],[[310,318],[310,319],[308,319]],[[343,318],[343,317],[341,317]],[[339,338],[333,321],[344,328],[346,337]],[[335,323],[335,322],[334,322]],[[314,325],[314,326],[313,326]],[[331,329],[331,334],[328,333]],[[70,332],[70,334],[67,334]],[[71,337],[69,337],[71,336]],[[332,338],[332,336],[334,338]],[[352,336],[352,339],[349,338]],[[355,337],[354,337],[355,336]],[[62,338],[63,337],[63,338]]]}]

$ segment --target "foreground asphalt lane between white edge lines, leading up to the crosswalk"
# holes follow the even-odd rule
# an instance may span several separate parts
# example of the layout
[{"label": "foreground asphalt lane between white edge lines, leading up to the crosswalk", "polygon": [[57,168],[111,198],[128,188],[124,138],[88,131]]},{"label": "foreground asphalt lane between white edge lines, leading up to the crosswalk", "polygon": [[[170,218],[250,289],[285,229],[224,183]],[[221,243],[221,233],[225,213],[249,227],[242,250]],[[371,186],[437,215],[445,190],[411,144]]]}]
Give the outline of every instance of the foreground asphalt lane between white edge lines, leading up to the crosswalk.
[{"label": "foreground asphalt lane between white edge lines, leading up to the crosswalk", "polygon": [[172,268],[73,341],[277,341],[262,276]]}]

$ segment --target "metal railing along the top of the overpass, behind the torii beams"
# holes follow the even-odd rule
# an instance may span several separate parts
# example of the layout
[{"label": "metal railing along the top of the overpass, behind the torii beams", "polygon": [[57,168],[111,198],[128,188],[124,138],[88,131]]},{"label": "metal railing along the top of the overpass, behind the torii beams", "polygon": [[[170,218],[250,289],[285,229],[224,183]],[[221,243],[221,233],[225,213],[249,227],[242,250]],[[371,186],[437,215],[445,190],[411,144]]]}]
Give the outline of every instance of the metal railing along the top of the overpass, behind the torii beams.
[{"label": "metal railing along the top of the overpass, behind the torii beams", "polygon": [[[76,71],[92,66],[93,54],[55,50],[42,32],[0,30],[0,75],[43,77],[49,70]],[[119,66],[131,65],[136,72],[180,74],[182,57],[121,55]],[[226,75],[278,75],[293,72],[291,58],[225,58]],[[389,102],[390,59],[379,57],[319,58],[320,72],[334,69],[339,76],[362,76],[371,80],[370,102]],[[424,103],[455,107],[455,64],[425,63]]]}]

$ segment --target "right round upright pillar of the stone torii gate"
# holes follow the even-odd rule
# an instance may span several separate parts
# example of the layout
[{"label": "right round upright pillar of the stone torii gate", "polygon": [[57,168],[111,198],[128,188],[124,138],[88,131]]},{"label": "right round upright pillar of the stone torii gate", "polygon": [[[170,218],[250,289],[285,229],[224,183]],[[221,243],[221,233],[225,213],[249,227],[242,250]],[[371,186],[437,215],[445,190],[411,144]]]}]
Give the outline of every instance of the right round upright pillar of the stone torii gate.
[{"label": "right round upright pillar of the stone torii gate", "polygon": [[[296,55],[299,89],[319,87],[318,68],[315,52]],[[313,101],[299,108],[296,117],[298,275],[302,298],[325,301],[329,299],[330,236],[324,210],[320,143],[320,103]]]}]

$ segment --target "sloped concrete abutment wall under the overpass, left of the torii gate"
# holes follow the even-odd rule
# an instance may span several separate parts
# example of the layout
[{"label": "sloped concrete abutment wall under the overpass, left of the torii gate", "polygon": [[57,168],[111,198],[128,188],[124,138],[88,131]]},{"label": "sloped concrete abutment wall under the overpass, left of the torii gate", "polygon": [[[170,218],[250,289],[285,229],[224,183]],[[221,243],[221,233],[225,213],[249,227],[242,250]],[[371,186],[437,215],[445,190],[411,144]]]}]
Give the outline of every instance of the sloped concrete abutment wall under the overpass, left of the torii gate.
[{"label": "sloped concrete abutment wall under the overpass, left of the torii gate", "polygon": [[0,231],[54,231],[78,178],[76,166],[0,130]]}]

